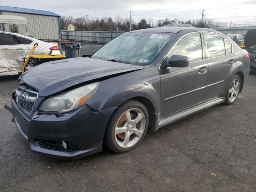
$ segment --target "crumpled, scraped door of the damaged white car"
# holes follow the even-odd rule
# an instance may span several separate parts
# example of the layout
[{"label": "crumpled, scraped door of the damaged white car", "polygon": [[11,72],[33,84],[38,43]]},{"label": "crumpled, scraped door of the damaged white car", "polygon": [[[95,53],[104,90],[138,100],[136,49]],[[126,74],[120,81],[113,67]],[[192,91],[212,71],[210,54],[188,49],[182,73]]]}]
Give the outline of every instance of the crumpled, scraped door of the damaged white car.
[{"label": "crumpled, scraped door of the damaged white car", "polygon": [[17,70],[23,63],[28,48],[16,36],[0,33],[0,73]]}]

